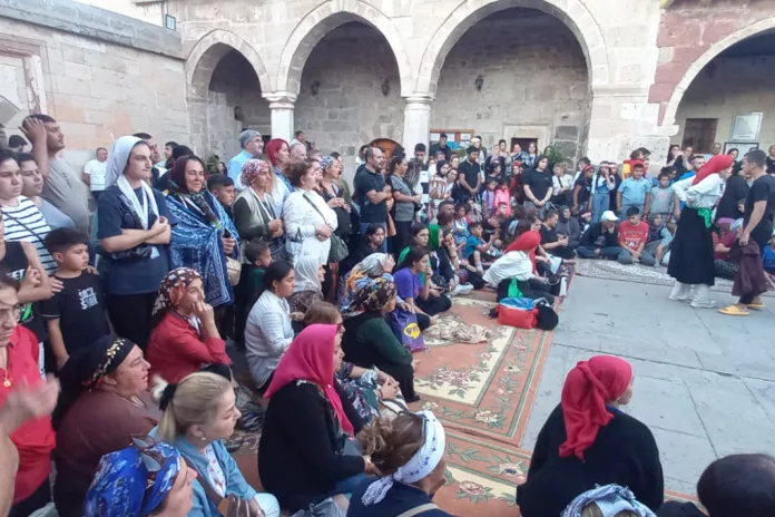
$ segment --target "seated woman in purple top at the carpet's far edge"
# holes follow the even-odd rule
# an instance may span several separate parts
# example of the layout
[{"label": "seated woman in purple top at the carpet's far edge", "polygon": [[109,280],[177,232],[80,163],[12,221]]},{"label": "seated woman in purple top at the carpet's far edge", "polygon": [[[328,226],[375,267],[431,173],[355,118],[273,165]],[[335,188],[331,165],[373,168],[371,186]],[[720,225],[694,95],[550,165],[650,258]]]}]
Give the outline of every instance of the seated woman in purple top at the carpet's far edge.
[{"label": "seated woman in purple top at the carpet's far edge", "polygon": [[434,323],[432,316],[452,306],[452,300],[432,289],[431,282],[423,283],[420,277],[421,272],[428,275],[433,273],[428,263],[429,254],[426,247],[412,246],[394,275],[399,296],[416,313],[421,330]]}]

